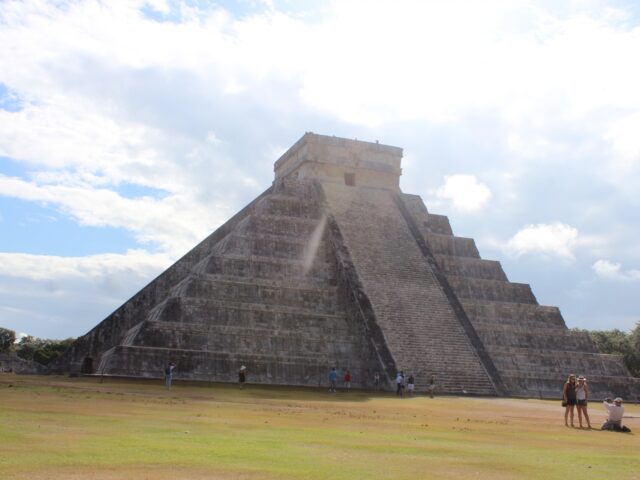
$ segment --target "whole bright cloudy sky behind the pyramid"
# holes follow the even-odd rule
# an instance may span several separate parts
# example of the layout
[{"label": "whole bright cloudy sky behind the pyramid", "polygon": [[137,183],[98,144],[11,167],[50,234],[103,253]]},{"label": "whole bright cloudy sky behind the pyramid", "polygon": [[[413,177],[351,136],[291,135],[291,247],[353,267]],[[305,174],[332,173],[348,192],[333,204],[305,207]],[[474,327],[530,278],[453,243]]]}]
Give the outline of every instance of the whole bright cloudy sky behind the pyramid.
[{"label": "whole bright cloudy sky behind the pyramid", "polygon": [[569,327],[640,320],[635,1],[0,2],[0,326],[82,335],[306,131],[404,149]]}]

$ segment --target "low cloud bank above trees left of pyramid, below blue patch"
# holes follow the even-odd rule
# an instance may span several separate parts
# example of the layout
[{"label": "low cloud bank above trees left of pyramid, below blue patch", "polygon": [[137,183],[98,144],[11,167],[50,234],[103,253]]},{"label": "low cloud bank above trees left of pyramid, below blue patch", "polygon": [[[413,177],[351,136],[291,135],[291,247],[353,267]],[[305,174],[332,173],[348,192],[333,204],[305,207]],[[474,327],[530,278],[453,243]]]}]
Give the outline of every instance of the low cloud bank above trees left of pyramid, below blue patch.
[{"label": "low cloud bank above trees left of pyramid, below blue patch", "polygon": [[3,325],[44,338],[79,335],[172,260],[140,250],[87,257],[0,253]]}]

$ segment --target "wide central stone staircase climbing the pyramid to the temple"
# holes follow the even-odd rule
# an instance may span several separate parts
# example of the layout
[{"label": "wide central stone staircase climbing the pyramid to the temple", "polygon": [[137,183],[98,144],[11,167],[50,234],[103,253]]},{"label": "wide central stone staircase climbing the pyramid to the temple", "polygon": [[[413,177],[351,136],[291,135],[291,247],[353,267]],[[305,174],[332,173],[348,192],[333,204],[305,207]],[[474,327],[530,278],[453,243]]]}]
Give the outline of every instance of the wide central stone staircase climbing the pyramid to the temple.
[{"label": "wide central stone staircase climbing the pyramid to the temple", "polygon": [[[495,395],[495,387],[388,190],[322,184],[397,369],[424,389]],[[465,248],[468,246],[465,245]]]}]

